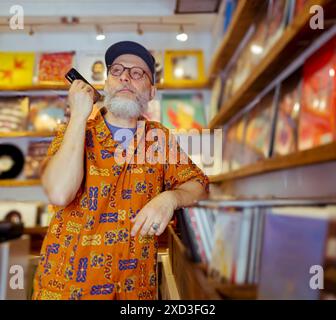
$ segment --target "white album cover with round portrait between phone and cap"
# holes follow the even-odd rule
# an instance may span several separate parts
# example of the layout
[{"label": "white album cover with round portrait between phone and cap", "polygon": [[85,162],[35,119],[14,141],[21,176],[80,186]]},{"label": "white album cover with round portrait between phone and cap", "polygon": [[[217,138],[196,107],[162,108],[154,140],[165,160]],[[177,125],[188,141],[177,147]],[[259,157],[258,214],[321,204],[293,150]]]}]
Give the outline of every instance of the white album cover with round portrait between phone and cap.
[{"label": "white album cover with round portrait between phone and cap", "polygon": [[107,78],[104,53],[77,54],[78,71],[91,84],[104,84]]}]

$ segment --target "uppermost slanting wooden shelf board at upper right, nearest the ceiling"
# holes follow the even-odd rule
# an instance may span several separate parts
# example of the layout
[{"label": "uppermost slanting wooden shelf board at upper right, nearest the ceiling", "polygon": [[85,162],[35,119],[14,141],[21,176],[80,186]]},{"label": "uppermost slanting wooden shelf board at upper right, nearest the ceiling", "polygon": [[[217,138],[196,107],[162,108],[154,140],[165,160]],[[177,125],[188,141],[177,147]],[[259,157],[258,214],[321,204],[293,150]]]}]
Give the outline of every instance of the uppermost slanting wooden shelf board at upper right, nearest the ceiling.
[{"label": "uppermost slanting wooden shelf board at upper right, nearest the ceiling", "polygon": [[209,69],[209,78],[215,79],[220,70],[229,63],[260,7],[260,0],[240,0],[233,14],[232,21],[220,45],[218,46]]}]

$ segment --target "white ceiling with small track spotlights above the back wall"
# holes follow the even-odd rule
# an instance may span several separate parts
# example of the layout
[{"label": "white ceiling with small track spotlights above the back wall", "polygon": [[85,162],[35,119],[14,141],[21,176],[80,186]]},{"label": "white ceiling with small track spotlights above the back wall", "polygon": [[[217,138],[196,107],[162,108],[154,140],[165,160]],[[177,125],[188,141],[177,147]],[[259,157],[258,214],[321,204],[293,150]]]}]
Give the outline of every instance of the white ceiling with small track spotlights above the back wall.
[{"label": "white ceiling with small track spotlights above the back wall", "polygon": [[[104,32],[211,32],[216,13],[175,14],[176,1],[191,7],[193,0],[21,0],[24,30],[34,32],[88,32],[100,25]],[[201,11],[212,11],[213,2],[205,0]],[[198,1],[200,3],[200,1]],[[194,2],[195,3],[195,2]],[[208,5],[206,5],[208,3]],[[9,10],[17,1],[0,2],[0,32],[10,32]],[[181,4],[181,3],[180,3]],[[218,7],[218,4],[217,4]],[[209,10],[207,10],[207,8]],[[73,17],[77,22],[73,23]],[[61,19],[67,23],[61,23]]]}]

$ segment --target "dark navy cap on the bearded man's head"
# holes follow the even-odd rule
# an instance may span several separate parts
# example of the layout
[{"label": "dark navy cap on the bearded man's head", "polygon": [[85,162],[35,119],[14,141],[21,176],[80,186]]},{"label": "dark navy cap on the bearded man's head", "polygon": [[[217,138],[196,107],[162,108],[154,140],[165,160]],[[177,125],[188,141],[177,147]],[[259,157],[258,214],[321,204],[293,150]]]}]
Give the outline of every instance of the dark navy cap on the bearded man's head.
[{"label": "dark navy cap on the bearded man's head", "polygon": [[105,63],[107,70],[113,61],[122,54],[134,54],[140,57],[147,64],[152,73],[155,83],[155,59],[151,53],[141,44],[133,41],[120,41],[111,45],[105,53]]}]

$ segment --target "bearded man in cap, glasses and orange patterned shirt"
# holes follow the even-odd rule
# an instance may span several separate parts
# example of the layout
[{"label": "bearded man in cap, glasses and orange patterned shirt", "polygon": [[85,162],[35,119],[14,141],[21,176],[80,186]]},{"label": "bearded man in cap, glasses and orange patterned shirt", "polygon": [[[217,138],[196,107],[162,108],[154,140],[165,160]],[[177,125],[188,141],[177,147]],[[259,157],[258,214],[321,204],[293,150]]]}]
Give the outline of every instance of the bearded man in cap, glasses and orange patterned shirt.
[{"label": "bearded man in cap, glasses and orange patterned shirt", "polygon": [[[123,41],[107,50],[105,60],[105,113],[88,121],[93,92],[75,81],[70,121],[48,151],[42,184],[55,215],[33,299],[155,299],[158,236],[174,210],[208,193],[207,177],[189,158],[153,162],[146,153],[148,161],[140,161],[140,145],[148,150],[156,144],[156,156],[167,156],[174,145],[147,141],[150,130],[169,135],[160,123],[142,117],[155,95],[151,54]],[[118,129],[131,134],[119,141]]]}]

